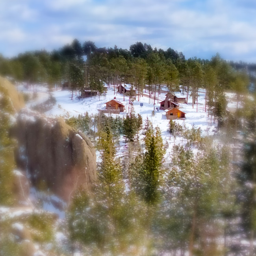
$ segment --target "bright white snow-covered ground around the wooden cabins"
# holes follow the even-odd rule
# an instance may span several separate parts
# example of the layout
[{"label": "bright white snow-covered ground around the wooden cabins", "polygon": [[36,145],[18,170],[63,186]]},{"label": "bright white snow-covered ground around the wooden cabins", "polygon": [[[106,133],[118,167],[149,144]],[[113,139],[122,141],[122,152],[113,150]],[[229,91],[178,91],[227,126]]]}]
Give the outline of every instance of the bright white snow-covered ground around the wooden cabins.
[{"label": "bright white snow-covered ground around the wooden cabins", "polygon": [[[29,93],[33,93],[34,91],[37,92],[37,98],[34,101],[29,101],[27,103],[28,107],[33,106],[36,103],[41,104],[43,100],[47,100],[49,95],[47,87],[42,87],[41,85],[28,88],[25,88],[24,85],[19,85],[18,89],[20,91]],[[165,87],[163,87],[162,90],[165,90]],[[148,91],[143,91],[143,96],[140,97],[139,101],[138,96],[136,96],[136,99],[133,102],[133,106],[135,113],[140,114],[143,118],[143,121],[145,121],[145,119],[148,117],[148,119],[152,121],[154,127],[158,126],[160,128],[164,143],[167,143],[169,145],[169,148],[166,150],[165,155],[167,157],[171,152],[173,145],[183,143],[184,139],[182,139],[181,137],[176,137],[174,139],[174,137],[171,136],[170,133],[167,131],[169,126],[169,120],[166,119],[165,111],[159,109],[159,103],[165,99],[166,93],[167,91],[156,95],[156,98],[158,98],[158,100],[156,99],[155,101],[154,115],[152,115],[152,111],[154,110],[154,102],[152,98],[148,98]],[[194,108],[192,107],[191,97],[188,98],[188,104],[180,104],[180,110],[186,113],[186,119],[175,120],[175,122],[182,125],[185,124],[187,128],[191,128],[192,126],[194,126],[195,128],[200,127],[202,130],[202,135],[213,135],[216,131],[216,124],[213,124],[213,119],[211,119],[210,116],[208,117],[208,113],[205,112],[205,91],[204,89],[200,89],[198,93],[198,104],[194,104]],[[100,98],[96,96],[79,100],[74,95],[73,100],[71,100],[71,91],[61,89],[53,89],[52,94],[56,98],[56,104],[53,106],[52,109],[45,113],[46,115],[51,117],[65,117],[67,115],[78,116],[79,114],[83,115],[85,112],[88,112],[89,115],[94,115],[98,113],[98,109],[105,109],[105,103],[109,100],[112,100],[114,97],[116,97],[118,101],[122,102],[125,105],[126,111],[119,114],[121,117],[124,117],[129,109],[129,96],[124,96],[120,93],[117,93],[117,91],[114,90],[113,85],[110,85],[106,96],[102,95]],[[184,95],[184,97],[186,97],[186,95]],[[143,106],[141,106],[141,103],[143,103]],[[156,108],[158,108],[158,110]],[[115,116],[116,114],[112,115]]]}]

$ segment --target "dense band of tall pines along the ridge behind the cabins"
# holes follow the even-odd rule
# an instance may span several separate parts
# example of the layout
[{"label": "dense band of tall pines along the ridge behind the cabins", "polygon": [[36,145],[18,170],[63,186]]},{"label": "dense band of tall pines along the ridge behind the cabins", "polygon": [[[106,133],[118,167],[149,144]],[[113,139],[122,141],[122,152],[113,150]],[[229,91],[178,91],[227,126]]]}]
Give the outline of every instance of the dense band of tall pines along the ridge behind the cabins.
[{"label": "dense band of tall pines along the ridge behind the cabins", "polygon": [[205,88],[208,109],[221,108],[224,90],[241,93],[247,91],[250,82],[255,83],[255,78],[249,79],[248,67],[251,70],[253,65],[228,62],[219,54],[210,60],[186,59],[172,48],[153,49],[141,42],[127,50],[117,46],[98,48],[92,41],[81,44],[77,39],[52,52],[25,52],[10,59],[0,56],[0,74],[28,84],[47,83],[51,88],[63,85],[80,93],[87,87],[101,95],[104,83],[114,85],[115,90],[121,83],[130,83],[138,92],[138,100],[147,89],[154,103],[162,85],[170,92],[180,90],[182,85],[187,98],[191,91],[193,107],[198,88]]}]

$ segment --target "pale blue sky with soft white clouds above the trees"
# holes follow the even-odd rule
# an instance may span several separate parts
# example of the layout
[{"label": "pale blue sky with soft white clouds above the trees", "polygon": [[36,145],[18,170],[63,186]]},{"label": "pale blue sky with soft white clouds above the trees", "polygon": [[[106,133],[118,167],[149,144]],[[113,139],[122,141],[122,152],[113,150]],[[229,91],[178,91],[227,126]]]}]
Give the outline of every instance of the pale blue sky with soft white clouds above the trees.
[{"label": "pale blue sky with soft white clouds above the trees", "polygon": [[3,56],[51,51],[75,38],[256,63],[256,0],[0,0]]}]

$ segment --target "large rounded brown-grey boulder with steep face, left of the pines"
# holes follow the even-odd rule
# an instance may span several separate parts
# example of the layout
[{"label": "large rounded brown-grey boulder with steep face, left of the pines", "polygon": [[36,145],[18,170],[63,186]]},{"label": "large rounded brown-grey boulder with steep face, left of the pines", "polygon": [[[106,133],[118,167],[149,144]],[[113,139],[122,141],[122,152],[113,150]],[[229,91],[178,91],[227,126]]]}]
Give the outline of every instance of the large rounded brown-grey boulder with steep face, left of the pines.
[{"label": "large rounded brown-grey boulder with steep face, left of the pines", "polygon": [[70,202],[79,187],[96,180],[96,153],[91,141],[63,119],[50,119],[23,109],[12,130],[17,138],[16,161],[34,186]]}]

